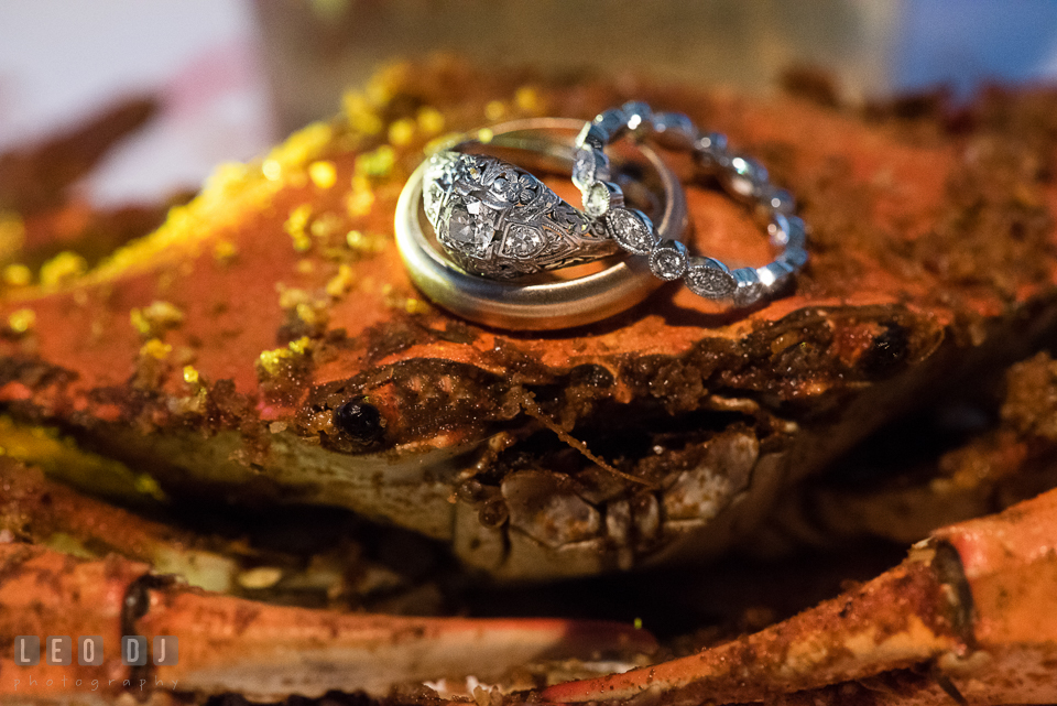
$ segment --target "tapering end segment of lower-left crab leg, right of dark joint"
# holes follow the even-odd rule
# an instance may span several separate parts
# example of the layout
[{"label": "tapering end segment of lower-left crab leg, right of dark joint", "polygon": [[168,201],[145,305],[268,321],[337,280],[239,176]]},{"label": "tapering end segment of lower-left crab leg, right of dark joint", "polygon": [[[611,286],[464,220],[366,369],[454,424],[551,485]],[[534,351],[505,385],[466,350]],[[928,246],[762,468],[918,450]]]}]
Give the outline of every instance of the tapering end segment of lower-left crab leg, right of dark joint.
[{"label": "tapering end segment of lower-left crab leg, right of dark joint", "polygon": [[150,601],[140,633],[175,634],[181,645],[179,662],[155,675],[201,693],[383,696],[394,684],[440,676],[491,680],[543,656],[654,647],[641,631],[610,623],[348,615],[195,590],[151,591]]}]

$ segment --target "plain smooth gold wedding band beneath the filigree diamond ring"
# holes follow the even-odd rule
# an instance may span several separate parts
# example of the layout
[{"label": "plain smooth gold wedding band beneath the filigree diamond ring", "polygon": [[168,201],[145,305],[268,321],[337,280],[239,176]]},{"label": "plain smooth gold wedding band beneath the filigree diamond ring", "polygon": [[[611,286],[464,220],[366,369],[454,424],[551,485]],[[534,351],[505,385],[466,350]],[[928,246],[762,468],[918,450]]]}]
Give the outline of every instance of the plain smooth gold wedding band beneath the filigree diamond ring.
[{"label": "plain smooth gold wedding band beneath the filigree diamond ring", "polygon": [[[571,139],[581,120],[535,118],[512,121],[489,129],[489,149],[524,150],[570,171],[576,148]],[[664,160],[646,145],[629,144],[632,154],[645,159],[661,186],[662,213],[656,231],[679,241],[686,232],[686,198],[678,177]],[[517,284],[469,274],[440,250],[423,228],[423,177],[428,161],[407,180],[396,204],[396,245],[412,282],[429,300],[464,318],[500,328],[549,330],[590,324],[618,314],[643,301],[663,282],[649,263],[626,258],[574,279],[549,278]],[[428,226],[428,221],[426,222]],[[432,228],[431,228],[432,230]]]}]

